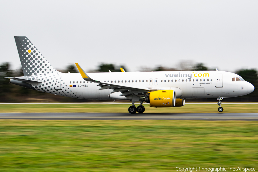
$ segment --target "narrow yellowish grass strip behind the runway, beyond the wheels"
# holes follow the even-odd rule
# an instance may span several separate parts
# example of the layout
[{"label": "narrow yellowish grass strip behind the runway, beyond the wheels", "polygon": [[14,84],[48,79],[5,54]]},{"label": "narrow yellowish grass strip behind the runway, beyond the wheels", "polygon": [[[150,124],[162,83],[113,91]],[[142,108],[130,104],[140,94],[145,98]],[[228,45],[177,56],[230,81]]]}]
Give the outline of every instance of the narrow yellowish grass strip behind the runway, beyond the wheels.
[{"label": "narrow yellowish grass strip behind the runway, beyond the wheels", "polygon": [[[136,105],[136,104],[135,104]],[[137,104],[138,105],[138,104]],[[137,106],[136,105],[136,106]],[[125,112],[130,104],[0,104],[1,112]],[[183,107],[155,108],[144,105],[146,113],[218,113],[216,104],[186,104]],[[256,104],[222,104],[223,113],[257,113]]]}]

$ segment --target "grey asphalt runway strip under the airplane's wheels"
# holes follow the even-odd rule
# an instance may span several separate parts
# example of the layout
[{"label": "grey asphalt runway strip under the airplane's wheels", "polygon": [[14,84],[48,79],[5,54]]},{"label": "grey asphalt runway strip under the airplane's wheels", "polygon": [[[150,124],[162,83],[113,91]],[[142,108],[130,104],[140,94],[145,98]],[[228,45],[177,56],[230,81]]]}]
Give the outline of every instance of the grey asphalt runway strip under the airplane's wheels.
[{"label": "grey asphalt runway strip under the airplane's wheels", "polygon": [[0,119],[19,120],[244,120],[258,113],[0,113]]}]

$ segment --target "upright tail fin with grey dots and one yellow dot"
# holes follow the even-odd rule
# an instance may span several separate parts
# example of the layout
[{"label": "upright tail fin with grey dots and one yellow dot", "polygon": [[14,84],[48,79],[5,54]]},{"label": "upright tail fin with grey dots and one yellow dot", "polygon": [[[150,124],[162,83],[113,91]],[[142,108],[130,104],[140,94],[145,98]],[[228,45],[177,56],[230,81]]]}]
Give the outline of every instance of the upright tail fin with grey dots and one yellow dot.
[{"label": "upright tail fin with grey dots and one yellow dot", "polygon": [[56,71],[26,36],[14,36],[24,76],[48,75]]}]

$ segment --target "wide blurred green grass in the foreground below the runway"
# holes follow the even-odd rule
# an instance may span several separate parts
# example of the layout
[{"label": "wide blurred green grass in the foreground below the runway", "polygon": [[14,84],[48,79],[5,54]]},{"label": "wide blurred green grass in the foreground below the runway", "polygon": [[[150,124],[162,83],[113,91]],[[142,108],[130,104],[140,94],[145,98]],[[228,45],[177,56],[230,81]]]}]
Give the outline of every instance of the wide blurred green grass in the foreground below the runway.
[{"label": "wide blurred green grass in the foreground below the runway", "polygon": [[257,121],[0,120],[0,171],[258,166]]}]

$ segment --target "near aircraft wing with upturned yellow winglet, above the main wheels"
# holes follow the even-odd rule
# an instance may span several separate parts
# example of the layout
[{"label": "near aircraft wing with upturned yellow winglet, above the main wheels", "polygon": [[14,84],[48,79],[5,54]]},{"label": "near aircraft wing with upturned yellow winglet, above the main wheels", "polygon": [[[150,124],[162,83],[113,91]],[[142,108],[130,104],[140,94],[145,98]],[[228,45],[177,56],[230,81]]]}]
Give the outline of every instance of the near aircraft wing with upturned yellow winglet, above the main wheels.
[{"label": "near aircraft wing with upturned yellow winglet, above the main wheels", "polygon": [[83,71],[83,69],[80,67],[80,65],[78,63],[75,63],[75,64],[76,64],[76,67],[78,68],[81,76],[83,77],[83,79],[85,81],[99,83],[99,85],[98,85],[100,87],[99,90],[113,89],[113,91],[111,91],[111,93],[120,91],[122,93],[122,94],[120,94],[120,96],[122,96],[122,95],[128,96],[128,95],[131,95],[132,93],[137,95],[138,93],[146,93],[146,92],[150,91],[150,89],[148,89],[147,87],[135,87],[135,86],[124,85],[124,84],[119,84],[119,83],[109,83],[109,82],[97,81],[97,80],[89,77],[89,75],[85,71]]}]

